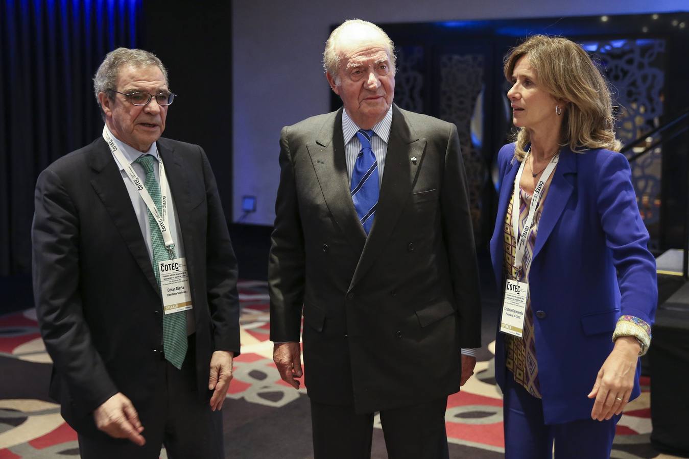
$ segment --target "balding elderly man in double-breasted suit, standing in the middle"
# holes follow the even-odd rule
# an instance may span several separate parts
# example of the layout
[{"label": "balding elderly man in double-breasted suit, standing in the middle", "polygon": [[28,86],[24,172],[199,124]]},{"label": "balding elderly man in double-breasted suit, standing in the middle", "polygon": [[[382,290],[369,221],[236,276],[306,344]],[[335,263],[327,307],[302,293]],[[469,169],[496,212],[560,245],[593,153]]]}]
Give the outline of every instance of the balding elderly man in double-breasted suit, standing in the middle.
[{"label": "balding elderly man in double-breasted suit, standing in the middle", "polygon": [[480,297],[455,125],[393,105],[393,43],[347,21],[326,43],[344,107],[282,129],[269,259],[282,378],[306,385],[316,458],[448,456],[447,396],[471,376]]}]

